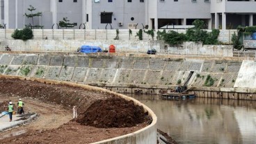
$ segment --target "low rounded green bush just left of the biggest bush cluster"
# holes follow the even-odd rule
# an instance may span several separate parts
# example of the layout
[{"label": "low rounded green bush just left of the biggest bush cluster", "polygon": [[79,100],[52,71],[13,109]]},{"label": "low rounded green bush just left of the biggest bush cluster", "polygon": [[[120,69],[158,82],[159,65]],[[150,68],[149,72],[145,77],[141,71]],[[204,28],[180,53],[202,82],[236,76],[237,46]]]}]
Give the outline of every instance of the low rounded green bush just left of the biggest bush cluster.
[{"label": "low rounded green bush just left of the biggest bush cluster", "polygon": [[182,44],[186,39],[186,36],[183,33],[177,33],[173,30],[170,30],[168,33],[163,35],[163,40],[170,46],[177,44]]}]

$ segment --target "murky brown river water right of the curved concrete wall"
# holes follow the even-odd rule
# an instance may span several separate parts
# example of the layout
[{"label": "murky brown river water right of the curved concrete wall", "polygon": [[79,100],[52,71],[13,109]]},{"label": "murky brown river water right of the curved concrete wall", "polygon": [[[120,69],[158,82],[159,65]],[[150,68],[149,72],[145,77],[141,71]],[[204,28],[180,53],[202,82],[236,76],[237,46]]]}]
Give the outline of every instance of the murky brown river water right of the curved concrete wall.
[{"label": "murky brown river water right of the curved concrete wall", "polygon": [[157,114],[158,128],[178,143],[256,143],[256,101],[130,96],[150,107]]}]

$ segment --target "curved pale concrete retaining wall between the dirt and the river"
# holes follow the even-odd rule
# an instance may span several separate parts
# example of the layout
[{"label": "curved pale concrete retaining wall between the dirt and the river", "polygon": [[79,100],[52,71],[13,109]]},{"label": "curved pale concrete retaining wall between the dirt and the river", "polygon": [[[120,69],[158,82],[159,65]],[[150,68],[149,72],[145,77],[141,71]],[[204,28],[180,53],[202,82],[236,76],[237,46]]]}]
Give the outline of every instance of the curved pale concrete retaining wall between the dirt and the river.
[{"label": "curved pale concrete retaining wall between the dirt and the river", "polygon": [[139,102],[138,100],[134,98],[130,98],[128,96],[115,93],[113,91],[109,91],[106,89],[101,89],[98,87],[91,87],[84,84],[76,84],[72,82],[63,82],[63,81],[57,81],[57,80],[45,80],[41,78],[24,78],[20,76],[10,76],[10,75],[0,75],[0,78],[18,78],[20,80],[32,80],[32,81],[38,81],[46,84],[65,84],[70,85],[72,87],[82,87],[83,89],[88,89],[90,91],[102,91],[104,93],[111,93],[112,95],[118,96],[120,98],[125,98],[125,100],[133,100],[135,105],[142,106],[144,111],[147,111],[149,116],[152,118],[152,123],[148,125],[147,127],[144,127],[143,129],[140,129],[136,132],[133,132],[131,134],[126,134],[124,136],[118,136],[116,138],[111,138],[104,141],[99,141],[97,143],[136,143],[136,144],[142,144],[142,143],[149,143],[149,144],[155,144],[157,143],[157,116],[154,114],[154,112],[148,108],[146,105],[143,105],[143,103]]}]

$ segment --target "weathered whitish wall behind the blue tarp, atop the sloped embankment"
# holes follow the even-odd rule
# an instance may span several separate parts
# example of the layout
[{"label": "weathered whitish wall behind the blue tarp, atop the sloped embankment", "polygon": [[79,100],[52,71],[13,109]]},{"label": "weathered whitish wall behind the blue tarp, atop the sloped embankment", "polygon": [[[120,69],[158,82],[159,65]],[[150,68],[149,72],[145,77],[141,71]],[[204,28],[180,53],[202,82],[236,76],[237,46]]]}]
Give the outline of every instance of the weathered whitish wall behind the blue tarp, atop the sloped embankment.
[{"label": "weathered whitish wall behind the blue tarp, atop the sloped embankment", "polygon": [[0,40],[0,51],[5,51],[8,45],[12,51],[35,51],[35,52],[66,52],[73,53],[82,45],[99,46],[102,50],[109,50],[109,46],[115,46],[116,53],[146,53],[152,48],[161,55],[205,55],[209,57],[232,57],[233,46],[231,45],[202,45],[201,42],[184,42],[182,46],[170,47],[163,41],[125,41],[125,40],[50,40],[31,39],[27,41],[5,39]]}]

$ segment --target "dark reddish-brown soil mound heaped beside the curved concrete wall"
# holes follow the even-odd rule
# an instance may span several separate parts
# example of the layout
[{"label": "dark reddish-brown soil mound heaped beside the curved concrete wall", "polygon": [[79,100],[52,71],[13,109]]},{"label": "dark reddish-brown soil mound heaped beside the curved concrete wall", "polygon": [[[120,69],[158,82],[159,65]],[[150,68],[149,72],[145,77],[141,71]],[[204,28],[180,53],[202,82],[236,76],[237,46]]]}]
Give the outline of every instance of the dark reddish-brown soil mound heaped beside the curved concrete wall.
[{"label": "dark reddish-brown soil mound heaped beside the curved concrete wall", "polygon": [[134,127],[139,123],[151,123],[143,107],[123,98],[97,100],[77,119],[82,125],[93,127]]}]

